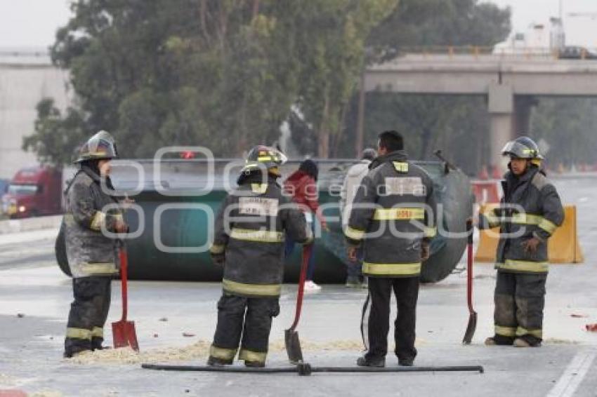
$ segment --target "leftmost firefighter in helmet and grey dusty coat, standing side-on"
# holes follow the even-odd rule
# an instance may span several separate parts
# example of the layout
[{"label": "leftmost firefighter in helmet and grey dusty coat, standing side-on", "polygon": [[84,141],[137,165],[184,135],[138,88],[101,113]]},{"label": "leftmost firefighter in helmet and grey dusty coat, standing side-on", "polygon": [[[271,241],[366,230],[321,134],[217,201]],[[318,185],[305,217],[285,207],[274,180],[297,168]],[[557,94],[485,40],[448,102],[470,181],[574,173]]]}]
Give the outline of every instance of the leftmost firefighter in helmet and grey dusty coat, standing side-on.
[{"label": "leftmost firefighter in helmet and grey dusty coat, standing side-on", "polygon": [[[79,149],[79,171],[65,191],[63,219],[66,253],[72,273],[74,301],[68,316],[65,354],[103,349],[103,327],[110,309],[110,281],[118,274],[114,239],[103,230],[124,233],[128,229],[122,211],[114,207],[110,160],[117,157],[112,136],[100,131]],[[103,183],[102,183],[103,182]],[[111,205],[110,208],[105,206]]]}]

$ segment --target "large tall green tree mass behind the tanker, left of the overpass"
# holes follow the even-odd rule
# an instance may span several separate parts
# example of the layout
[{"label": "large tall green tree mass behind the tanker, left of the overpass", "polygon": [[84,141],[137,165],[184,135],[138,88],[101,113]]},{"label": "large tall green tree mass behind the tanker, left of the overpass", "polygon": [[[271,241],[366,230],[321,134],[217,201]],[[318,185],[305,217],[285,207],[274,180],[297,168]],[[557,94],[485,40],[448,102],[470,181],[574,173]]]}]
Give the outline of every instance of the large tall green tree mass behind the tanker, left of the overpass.
[{"label": "large tall green tree mass behind the tanker, left of the overpass", "polygon": [[[70,145],[105,129],[126,156],[175,144],[235,156],[276,140],[299,105],[327,156],[367,34],[397,2],[76,1],[52,48],[78,98],[69,112],[82,127],[69,131]],[[71,127],[60,114],[52,117]],[[29,148],[60,131],[41,121]]]}]

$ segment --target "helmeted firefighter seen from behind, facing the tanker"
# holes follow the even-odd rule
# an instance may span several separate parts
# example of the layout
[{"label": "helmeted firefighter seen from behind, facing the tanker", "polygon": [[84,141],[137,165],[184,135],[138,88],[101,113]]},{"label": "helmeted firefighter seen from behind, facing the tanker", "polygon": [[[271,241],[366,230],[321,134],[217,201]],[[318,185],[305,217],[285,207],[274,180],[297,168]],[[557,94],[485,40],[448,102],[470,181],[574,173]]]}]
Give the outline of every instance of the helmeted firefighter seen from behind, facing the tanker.
[{"label": "helmeted firefighter seen from behind, facing the tanker", "polygon": [[280,313],[285,234],[313,241],[303,212],[277,184],[285,161],[276,149],[252,149],[216,217],[210,253],[223,265],[223,293],[208,365],[232,364],[239,344],[245,365],[265,365],[272,319]]}]

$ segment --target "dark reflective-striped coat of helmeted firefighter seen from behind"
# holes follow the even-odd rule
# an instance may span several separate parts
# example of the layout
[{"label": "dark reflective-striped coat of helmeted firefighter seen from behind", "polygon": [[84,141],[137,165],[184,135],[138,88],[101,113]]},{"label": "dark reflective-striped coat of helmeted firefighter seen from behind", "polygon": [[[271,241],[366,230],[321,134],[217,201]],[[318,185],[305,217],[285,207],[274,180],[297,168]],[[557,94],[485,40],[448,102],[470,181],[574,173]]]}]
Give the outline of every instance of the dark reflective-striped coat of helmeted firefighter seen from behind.
[{"label": "dark reflective-striped coat of helmeted firefighter seen from behind", "polygon": [[[263,183],[265,182],[265,183]],[[211,255],[225,255],[225,293],[247,297],[280,296],[284,238],[313,239],[305,215],[282,194],[273,177],[251,175],[228,194],[216,217]]]}]

